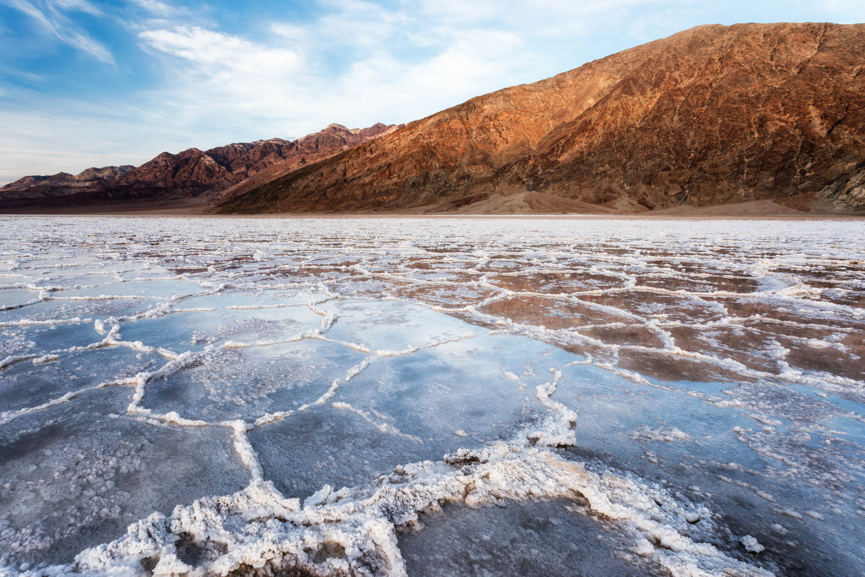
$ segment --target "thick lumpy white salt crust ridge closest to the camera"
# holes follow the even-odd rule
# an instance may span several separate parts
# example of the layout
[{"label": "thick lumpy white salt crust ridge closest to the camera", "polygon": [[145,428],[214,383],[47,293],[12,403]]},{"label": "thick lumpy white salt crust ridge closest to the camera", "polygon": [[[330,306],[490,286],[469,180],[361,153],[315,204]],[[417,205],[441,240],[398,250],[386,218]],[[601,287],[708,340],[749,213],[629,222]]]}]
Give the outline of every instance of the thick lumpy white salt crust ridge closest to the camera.
[{"label": "thick lumpy white salt crust ridge closest to the camera", "polygon": [[[155,576],[300,569],[314,575],[398,577],[407,573],[395,526],[416,521],[431,505],[462,502],[477,509],[578,496],[594,513],[622,523],[633,537],[634,552],[652,556],[675,577],[771,575],[687,535],[695,532],[692,523],[704,525],[707,532],[714,529],[705,507],[682,505],[657,485],[599,475],[541,448],[573,444],[573,431],[561,417],[550,417],[509,443],[460,449],[435,463],[402,465],[366,487],[333,490],[325,485],[304,503],[282,497],[270,481],[254,474],[259,469],[245,441],[246,426],[242,421],[232,426],[235,447],[253,469],[246,489],[178,505],[168,517],[154,513],[132,523],[117,541],[82,551],[71,565],[20,574],[6,569],[0,575],[133,577],[146,574],[142,561],[150,560]],[[754,543],[746,539],[742,542],[750,550],[761,547],[753,537]],[[178,555],[178,545],[189,542],[209,552],[196,566]]]}]

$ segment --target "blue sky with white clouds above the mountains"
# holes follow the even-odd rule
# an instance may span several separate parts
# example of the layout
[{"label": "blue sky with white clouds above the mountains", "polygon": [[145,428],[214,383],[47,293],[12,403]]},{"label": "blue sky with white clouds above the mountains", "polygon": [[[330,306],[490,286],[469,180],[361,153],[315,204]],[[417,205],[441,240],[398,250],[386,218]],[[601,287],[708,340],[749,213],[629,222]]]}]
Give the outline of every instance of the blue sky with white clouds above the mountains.
[{"label": "blue sky with white clouds above the mountains", "polygon": [[0,0],[0,184],[422,118],[698,24],[862,0]]}]

